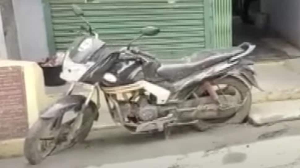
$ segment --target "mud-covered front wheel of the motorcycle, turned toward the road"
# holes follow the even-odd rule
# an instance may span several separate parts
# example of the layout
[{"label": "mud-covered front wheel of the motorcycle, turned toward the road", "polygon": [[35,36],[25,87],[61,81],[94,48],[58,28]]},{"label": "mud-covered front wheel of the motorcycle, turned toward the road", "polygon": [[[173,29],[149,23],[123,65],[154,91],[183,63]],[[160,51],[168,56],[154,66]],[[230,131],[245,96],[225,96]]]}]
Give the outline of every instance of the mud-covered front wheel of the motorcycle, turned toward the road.
[{"label": "mud-covered front wheel of the motorcycle, turned toward the road", "polygon": [[[75,141],[66,146],[71,147],[77,142],[84,141],[88,136],[94,121],[93,110],[94,108],[91,105],[84,110],[82,124],[78,133],[76,133]],[[60,125],[59,128],[57,128],[58,122],[61,121],[60,117],[62,116],[57,116],[49,120],[39,118],[29,129],[24,142],[24,156],[30,164],[39,164],[47,156],[52,154],[54,150],[64,149],[62,146],[63,142],[66,141],[68,130],[70,130],[74,120],[67,122],[66,125]],[[60,132],[60,134],[57,134],[58,132]]]}]

